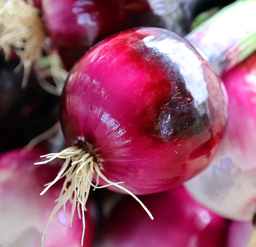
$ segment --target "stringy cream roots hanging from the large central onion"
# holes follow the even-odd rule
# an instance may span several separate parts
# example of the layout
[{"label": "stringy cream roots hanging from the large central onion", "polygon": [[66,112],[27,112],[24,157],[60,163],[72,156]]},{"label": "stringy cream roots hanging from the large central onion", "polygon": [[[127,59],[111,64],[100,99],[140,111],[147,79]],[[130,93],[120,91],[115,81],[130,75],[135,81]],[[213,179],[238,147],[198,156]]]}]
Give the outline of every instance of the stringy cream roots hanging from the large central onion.
[{"label": "stringy cream roots hanging from the large central onion", "polygon": [[[60,210],[61,207],[63,207],[63,210],[65,210],[65,205],[67,201],[69,200],[72,204],[72,215],[71,215],[71,221],[70,226],[72,225],[73,215],[76,211],[77,203],[81,205],[81,212],[79,207],[77,207],[79,218],[82,218],[83,222],[83,234],[81,239],[81,246],[83,246],[84,242],[84,231],[85,231],[85,218],[84,218],[84,211],[86,211],[86,201],[89,196],[90,187],[93,186],[94,188],[105,188],[108,186],[115,186],[132,197],[134,197],[144,208],[144,210],[148,213],[149,217],[153,220],[153,216],[149,212],[149,210],[145,207],[145,205],[140,201],[139,198],[137,198],[132,192],[125,189],[119,184],[122,184],[124,182],[118,182],[113,183],[109,181],[100,171],[98,161],[96,161],[96,154],[93,150],[87,151],[84,148],[80,148],[79,146],[73,146],[69,147],[67,149],[64,149],[63,151],[59,153],[50,153],[47,155],[42,155],[41,158],[46,157],[48,160],[35,163],[35,165],[41,165],[46,164],[55,158],[62,158],[65,159],[65,162],[63,164],[63,167],[58,172],[58,175],[54,179],[54,181],[50,182],[49,184],[46,184],[46,188],[41,192],[40,195],[44,195],[45,192],[58,180],[65,177],[65,181],[61,190],[61,193],[56,200],[57,204],[52,210],[52,214],[50,215],[49,221],[47,223],[47,226],[44,230],[43,236],[42,236],[42,247],[44,247],[44,237],[47,231],[47,227],[49,226],[49,222],[52,220],[54,215]],[[70,161],[72,161],[71,166],[69,166]],[[96,173],[97,179],[96,179],[96,185],[92,184],[93,180],[93,174]],[[102,178],[104,181],[107,182],[106,185],[98,187],[99,177]],[[81,217],[82,213],[82,217]]]}]

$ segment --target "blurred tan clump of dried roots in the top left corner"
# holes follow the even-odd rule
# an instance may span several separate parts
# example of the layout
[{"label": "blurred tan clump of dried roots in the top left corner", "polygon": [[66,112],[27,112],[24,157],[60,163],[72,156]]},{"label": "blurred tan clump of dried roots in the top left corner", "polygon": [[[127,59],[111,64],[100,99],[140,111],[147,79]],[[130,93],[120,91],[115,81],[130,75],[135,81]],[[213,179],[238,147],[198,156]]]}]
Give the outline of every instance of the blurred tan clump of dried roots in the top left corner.
[{"label": "blurred tan clump of dried roots in the top left corner", "polygon": [[[31,2],[31,1],[29,1]],[[0,47],[6,60],[12,49],[20,57],[24,66],[22,87],[26,87],[30,69],[41,56],[46,34],[40,11],[23,0],[0,0]]]}]

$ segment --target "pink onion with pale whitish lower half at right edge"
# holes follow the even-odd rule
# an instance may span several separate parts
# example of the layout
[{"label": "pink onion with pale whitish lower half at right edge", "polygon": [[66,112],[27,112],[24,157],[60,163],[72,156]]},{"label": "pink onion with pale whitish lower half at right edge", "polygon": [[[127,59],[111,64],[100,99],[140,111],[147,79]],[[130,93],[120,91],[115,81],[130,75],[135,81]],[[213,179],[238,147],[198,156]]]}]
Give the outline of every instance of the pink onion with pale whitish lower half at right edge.
[{"label": "pink onion with pale whitish lower half at right edge", "polygon": [[227,135],[212,164],[187,182],[191,195],[234,220],[256,213],[256,53],[223,77],[229,97]]}]

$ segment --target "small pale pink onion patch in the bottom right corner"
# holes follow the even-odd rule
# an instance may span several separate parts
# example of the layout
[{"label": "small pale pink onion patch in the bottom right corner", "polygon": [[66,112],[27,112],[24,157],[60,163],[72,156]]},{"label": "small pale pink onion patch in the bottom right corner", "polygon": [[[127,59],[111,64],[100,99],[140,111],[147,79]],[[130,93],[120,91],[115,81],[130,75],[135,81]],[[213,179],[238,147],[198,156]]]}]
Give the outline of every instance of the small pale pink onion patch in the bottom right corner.
[{"label": "small pale pink onion patch in the bottom right corner", "polygon": [[227,247],[247,247],[252,233],[251,221],[232,221],[228,230]]}]

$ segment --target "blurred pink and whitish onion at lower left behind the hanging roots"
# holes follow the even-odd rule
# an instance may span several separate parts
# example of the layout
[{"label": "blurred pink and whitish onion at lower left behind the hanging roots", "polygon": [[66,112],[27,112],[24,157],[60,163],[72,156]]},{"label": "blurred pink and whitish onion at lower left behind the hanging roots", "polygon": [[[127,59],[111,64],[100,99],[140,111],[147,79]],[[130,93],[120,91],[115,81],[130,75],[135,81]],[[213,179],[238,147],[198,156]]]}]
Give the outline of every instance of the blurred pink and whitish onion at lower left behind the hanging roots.
[{"label": "blurred pink and whitish onion at lower left behind the hanging roots", "polygon": [[[31,166],[38,161],[38,155],[47,150],[42,146],[34,148],[25,155],[15,149],[0,155],[0,245],[8,247],[41,246],[41,236],[51,214],[56,195],[61,187],[56,184],[47,195],[39,193],[44,184],[51,181],[59,162],[49,167]],[[48,150],[49,152],[49,150]],[[90,213],[86,214],[84,246],[91,247],[95,223],[93,208],[89,202]],[[71,205],[60,210],[52,219],[45,237],[44,247],[80,246],[82,224],[77,213],[70,228]]]}]

